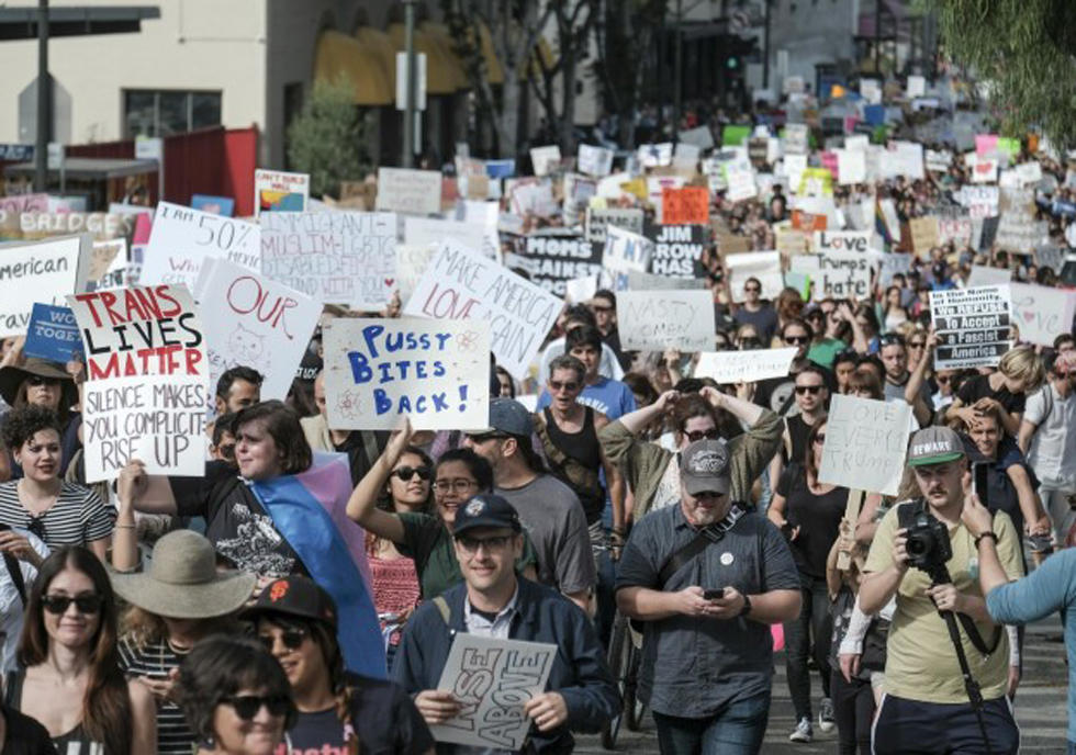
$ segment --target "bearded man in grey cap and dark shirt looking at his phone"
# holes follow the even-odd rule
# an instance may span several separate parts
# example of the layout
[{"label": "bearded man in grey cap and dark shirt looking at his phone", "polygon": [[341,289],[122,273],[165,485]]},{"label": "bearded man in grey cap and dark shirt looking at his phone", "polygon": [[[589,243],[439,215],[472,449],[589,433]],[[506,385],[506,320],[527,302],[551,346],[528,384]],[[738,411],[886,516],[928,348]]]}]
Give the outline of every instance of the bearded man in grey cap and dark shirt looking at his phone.
[{"label": "bearded man in grey cap and dark shirt looking at his phone", "polygon": [[799,615],[785,539],[730,487],[725,441],[690,444],[681,505],[643,517],[620,557],[617,607],[645,622],[639,698],[662,753],[759,752],[773,675],[766,624]]}]

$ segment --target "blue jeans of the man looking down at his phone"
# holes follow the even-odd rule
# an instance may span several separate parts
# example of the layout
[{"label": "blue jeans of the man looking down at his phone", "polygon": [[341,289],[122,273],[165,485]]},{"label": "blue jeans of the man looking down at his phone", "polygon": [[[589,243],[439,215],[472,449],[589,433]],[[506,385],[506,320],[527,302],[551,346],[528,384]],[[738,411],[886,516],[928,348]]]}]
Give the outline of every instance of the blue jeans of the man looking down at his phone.
[{"label": "blue jeans of the man looking down at his phone", "polygon": [[733,700],[705,719],[653,713],[661,755],[755,755],[770,720],[770,690]]}]

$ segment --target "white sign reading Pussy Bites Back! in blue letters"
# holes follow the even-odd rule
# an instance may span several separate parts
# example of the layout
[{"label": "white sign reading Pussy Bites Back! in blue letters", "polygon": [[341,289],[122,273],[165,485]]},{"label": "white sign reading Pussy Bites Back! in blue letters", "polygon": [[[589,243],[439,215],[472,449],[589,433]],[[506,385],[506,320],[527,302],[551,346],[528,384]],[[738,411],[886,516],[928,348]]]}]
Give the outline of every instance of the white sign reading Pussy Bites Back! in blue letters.
[{"label": "white sign reading Pussy Bites Back! in blue letters", "polygon": [[418,430],[490,424],[490,327],[479,320],[334,319],[326,327],[325,401],[334,430]]}]

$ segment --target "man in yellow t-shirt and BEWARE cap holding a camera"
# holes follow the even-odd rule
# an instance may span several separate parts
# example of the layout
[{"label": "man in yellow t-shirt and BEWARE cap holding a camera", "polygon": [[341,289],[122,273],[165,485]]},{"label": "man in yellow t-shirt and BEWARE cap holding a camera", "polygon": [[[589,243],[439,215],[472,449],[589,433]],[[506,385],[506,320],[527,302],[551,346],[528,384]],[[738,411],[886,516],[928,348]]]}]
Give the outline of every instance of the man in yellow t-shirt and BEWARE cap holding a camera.
[{"label": "man in yellow t-shirt and BEWARE cap holding a camera", "polygon": [[1016,529],[1005,512],[977,537],[962,523],[967,458],[949,428],[916,432],[908,465],[921,497],[882,519],[860,587],[868,615],[896,596],[874,752],[1016,753],[1020,733],[1005,697],[1008,639],[976,579],[982,538],[996,540],[1009,579],[1022,574]]}]

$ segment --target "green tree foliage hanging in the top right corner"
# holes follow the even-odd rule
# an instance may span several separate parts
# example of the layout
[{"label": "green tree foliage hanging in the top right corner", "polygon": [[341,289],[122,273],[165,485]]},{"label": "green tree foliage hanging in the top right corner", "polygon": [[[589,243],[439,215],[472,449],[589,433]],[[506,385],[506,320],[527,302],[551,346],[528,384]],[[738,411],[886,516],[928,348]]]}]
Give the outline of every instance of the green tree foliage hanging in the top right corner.
[{"label": "green tree foliage hanging in the top right corner", "polygon": [[954,60],[990,82],[1001,131],[1039,126],[1076,147],[1076,3],[1073,0],[923,0]]}]

